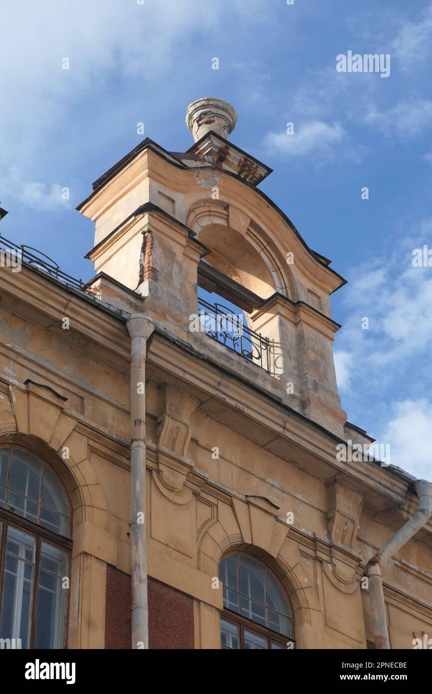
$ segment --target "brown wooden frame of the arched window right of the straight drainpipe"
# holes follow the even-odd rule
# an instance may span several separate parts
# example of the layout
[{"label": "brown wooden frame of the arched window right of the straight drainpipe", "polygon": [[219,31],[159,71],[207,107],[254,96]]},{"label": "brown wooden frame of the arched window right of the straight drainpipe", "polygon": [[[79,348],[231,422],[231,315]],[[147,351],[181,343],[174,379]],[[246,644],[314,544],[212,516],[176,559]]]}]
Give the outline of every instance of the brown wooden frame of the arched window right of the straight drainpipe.
[{"label": "brown wooden frame of the arched window right of the straight drainpipe", "polygon": [[[286,590],[284,589],[284,586],[280,582],[279,578],[275,574],[275,572],[261,559],[258,559],[257,557],[254,557],[254,555],[248,554],[247,552],[227,552],[225,554],[221,561],[223,559],[226,559],[227,557],[234,556],[234,557],[248,557],[248,559],[253,559],[254,561],[257,562],[257,564],[261,564],[266,571],[269,571],[275,581],[279,584],[279,588],[282,590],[282,593],[284,595],[284,598],[286,599],[286,602],[288,604],[288,607],[290,608],[291,611],[291,616],[289,619],[291,620],[291,632],[293,636],[285,636],[284,634],[280,634],[279,632],[274,632],[273,629],[269,629],[268,627],[265,627],[257,622],[254,622],[251,619],[248,619],[247,617],[244,617],[242,614],[238,612],[234,612],[233,610],[228,609],[227,607],[223,607],[221,611],[221,620],[224,620],[225,622],[229,622],[230,624],[234,625],[234,627],[237,627],[239,629],[239,648],[238,649],[222,649],[222,650],[245,650],[245,640],[244,640],[244,632],[252,632],[252,634],[255,634],[256,636],[260,636],[261,638],[265,638],[268,644],[268,650],[271,650],[271,645],[272,643],[275,643],[278,646],[282,646],[285,650],[287,649],[288,643],[293,643],[293,648],[295,648],[295,624],[294,624],[294,618],[293,618],[293,606],[291,605],[291,601],[288,599],[288,595],[286,595]],[[239,561],[239,571],[240,571],[240,559]],[[240,577],[240,575],[239,575]],[[267,576],[266,576],[266,582],[267,582]],[[224,586],[227,587],[227,586]],[[232,590],[232,589],[229,589]],[[239,591],[234,591],[236,592],[240,597],[242,593]],[[240,604],[240,603],[239,603]],[[268,608],[268,606],[266,605]],[[270,609],[270,608],[268,608]]]}]

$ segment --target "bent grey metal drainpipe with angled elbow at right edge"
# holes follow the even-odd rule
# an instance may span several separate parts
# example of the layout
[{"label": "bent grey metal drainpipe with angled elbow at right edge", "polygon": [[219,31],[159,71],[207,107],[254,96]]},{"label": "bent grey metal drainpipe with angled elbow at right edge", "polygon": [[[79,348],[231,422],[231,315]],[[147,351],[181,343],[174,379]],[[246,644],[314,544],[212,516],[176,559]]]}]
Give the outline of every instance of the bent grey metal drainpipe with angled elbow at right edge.
[{"label": "bent grey metal drainpipe with angled elbow at right edge", "polygon": [[411,521],[405,523],[400,530],[383,546],[377,554],[368,561],[366,573],[369,577],[370,608],[372,611],[372,626],[374,629],[375,648],[389,650],[386,605],[384,603],[381,566],[408,542],[413,535],[426,525],[432,514],[432,483],[417,480],[414,483],[415,492],[419,498],[419,507]]}]

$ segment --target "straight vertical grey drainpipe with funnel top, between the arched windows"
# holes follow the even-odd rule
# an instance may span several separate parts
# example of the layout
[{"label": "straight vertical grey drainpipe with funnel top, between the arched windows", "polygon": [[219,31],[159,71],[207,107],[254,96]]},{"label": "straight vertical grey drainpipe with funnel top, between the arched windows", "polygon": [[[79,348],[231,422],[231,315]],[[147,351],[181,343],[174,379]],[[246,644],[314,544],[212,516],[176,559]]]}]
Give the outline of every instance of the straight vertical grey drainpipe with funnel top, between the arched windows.
[{"label": "straight vertical grey drainpipe with funnel top, between the arched windows", "polygon": [[130,530],[132,533],[132,648],[148,648],[146,539],[146,343],[155,324],[144,314],[126,323],[130,362]]}]

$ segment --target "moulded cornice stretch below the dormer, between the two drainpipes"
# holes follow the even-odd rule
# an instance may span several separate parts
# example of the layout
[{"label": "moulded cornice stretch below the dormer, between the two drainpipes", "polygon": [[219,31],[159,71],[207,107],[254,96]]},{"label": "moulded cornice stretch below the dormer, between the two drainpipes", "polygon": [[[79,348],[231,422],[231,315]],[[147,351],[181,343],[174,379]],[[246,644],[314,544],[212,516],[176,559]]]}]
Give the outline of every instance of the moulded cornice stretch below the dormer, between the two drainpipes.
[{"label": "moulded cornice stretch below the dormer, between the two drainpipes", "polygon": [[[318,471],[312,473],[314,476],[321,479],[338,476],[340,482],[354,485],[354,489],[367,496],[386,500],[384,509],[404,505],[408,482],[392,475],[386,468],[380,468],[375,462],[358,466],[338,461],[336,443],[342,442],[342,439],[261,390],[240,382],[234,375],[223,373],[220,366],[211,366],[196,355],[178,350],[174,343],[157,332],[153,335],[147,358],[148,364],[187,384],[193,395],[202,400],[203,411],[206,403],[215,400],[218,406],[226,408],[227,420],[230,413],[240,412],[245,420],[254,425],[260,437],[259,445],[275,452],[275,455],[309,473],[318,464]],[[301,462],[294,459],[293,445],[304,451]],[[373,474],[369,465],[374,466]]]}]

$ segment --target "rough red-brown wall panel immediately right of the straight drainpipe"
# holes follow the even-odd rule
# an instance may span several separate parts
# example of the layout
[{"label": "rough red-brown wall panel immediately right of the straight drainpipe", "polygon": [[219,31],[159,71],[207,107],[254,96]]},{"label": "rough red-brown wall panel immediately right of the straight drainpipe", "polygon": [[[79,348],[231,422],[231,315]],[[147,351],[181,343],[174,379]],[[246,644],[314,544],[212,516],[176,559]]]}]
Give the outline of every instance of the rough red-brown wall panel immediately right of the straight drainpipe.
[{"label": "rough red-brown wall panel immediately right of the straight drainpipe", "polygon": [[193,600],[148,577],[149,648],[193,648]]}]

